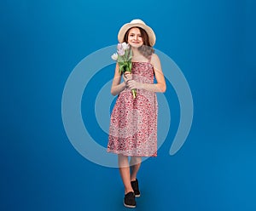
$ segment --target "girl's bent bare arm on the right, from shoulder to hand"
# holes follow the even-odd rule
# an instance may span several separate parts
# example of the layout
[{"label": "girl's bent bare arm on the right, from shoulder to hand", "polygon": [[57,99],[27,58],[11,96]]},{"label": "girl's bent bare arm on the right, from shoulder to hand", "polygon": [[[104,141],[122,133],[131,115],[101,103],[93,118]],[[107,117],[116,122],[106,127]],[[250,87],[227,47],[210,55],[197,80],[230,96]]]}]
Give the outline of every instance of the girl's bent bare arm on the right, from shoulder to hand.
[{"label": "girl's bent bare arm on the right, from shoulder to hand", "polygon": [[137,83],[134,80],[129,80],[127,82],[127,86],[130,89],[143,88],[143,89],[151,91],[151,92],[160,92],[160,93],[164,93],[166,91],[166,80],[165,80],[164,74],[162,72],[160,59],[157,56],[157,54],[152,54],[151,64],[154,66],[154,76],[155,76],[157,83],[154,83],[154,84]]}]

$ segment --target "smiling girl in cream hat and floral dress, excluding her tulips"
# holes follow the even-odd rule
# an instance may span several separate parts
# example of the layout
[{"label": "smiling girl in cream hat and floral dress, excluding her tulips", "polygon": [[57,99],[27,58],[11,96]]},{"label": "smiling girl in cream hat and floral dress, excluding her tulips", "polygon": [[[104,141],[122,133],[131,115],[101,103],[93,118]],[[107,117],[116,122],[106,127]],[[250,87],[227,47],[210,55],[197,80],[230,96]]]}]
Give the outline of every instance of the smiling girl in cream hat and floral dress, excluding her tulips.
[{"label": "smiling girl in cream hat and floral dress, excluding her tulips", "polygon": [[[124,205],[135,208],[140,197],[137,173],[141,157],[157,156],[156,92],[166,91],[160,59],[152,48],[154,31],[143,20],[131,20],[121,27],[119,43],[129,43],[132,50],[132,73],[125,72],[121,82],[116,65],[111,94],[117,95],[111,114],[108,151],[118,154],[119,173],[125,186]],[[157,83],[154,83],[154,77]],[[137,90],[137,97],[131,89]],[[128,157],[131,157],[130,163]]]}]

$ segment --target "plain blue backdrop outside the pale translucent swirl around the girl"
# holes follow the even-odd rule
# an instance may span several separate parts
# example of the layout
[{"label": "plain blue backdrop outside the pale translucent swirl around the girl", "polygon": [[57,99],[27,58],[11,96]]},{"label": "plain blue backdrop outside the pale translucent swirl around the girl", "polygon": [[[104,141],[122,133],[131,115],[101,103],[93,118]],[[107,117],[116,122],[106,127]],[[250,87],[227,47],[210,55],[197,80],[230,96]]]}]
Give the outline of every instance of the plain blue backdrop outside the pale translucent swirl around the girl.
[{"label": "plain blue backdrop outside the pale translucent swirl around the girl", "polygon": [[67,139],[61,94],[74,66],[135,18],[181,68],[195,106],[183,148],[169,156],[174,115],[159,156],[143,163],[137,210],[256,210],[255,9],[253,0],[2,1],[0,210],[126,209],[118,169],[90,163]]}]

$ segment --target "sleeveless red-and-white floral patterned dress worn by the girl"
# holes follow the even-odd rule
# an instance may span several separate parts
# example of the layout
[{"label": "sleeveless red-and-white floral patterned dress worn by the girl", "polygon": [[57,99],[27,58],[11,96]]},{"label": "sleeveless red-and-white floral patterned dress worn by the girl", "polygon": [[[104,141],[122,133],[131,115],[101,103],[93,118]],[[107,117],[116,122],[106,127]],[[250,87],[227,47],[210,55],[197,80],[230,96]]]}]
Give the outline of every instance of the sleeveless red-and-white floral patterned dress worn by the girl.
[{"label": "sleeveless red-and-white floral patterned dress worn by the girl", "polygon": [[[154,83],[149,62],[133,62],[132,77],[140,83]],[[110,118],[108,152],[125,156],[157,156],[156,94],[137,89],[137,98],[125,88],[118,96]]]}]

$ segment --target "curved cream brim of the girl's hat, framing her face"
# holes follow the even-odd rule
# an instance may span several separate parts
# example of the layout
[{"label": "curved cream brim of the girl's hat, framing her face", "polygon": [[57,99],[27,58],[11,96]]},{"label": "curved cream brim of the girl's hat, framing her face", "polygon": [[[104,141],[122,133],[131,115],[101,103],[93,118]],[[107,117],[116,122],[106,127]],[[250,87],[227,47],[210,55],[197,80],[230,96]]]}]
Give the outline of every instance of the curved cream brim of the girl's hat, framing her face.
[{"label": "curved cream brim of the girl's hat, framing her face", "polygon": [[148,39],[149,39],[149,43],[150,43],[151,47],[154,46],[154,43],[155,43],[154,31],[149,26],[144,25],[144,24],[140,24],[140,23],[127,23],[124,26],[122,26],[120,28],[119,34],[118,34],[119,43],[123,43],[124,42],[126,31],[128,31],[129,29],[131,29],[133,27],[140,27],[143,30],[145,30],[147,32],[147,34],[148,34]]}]

